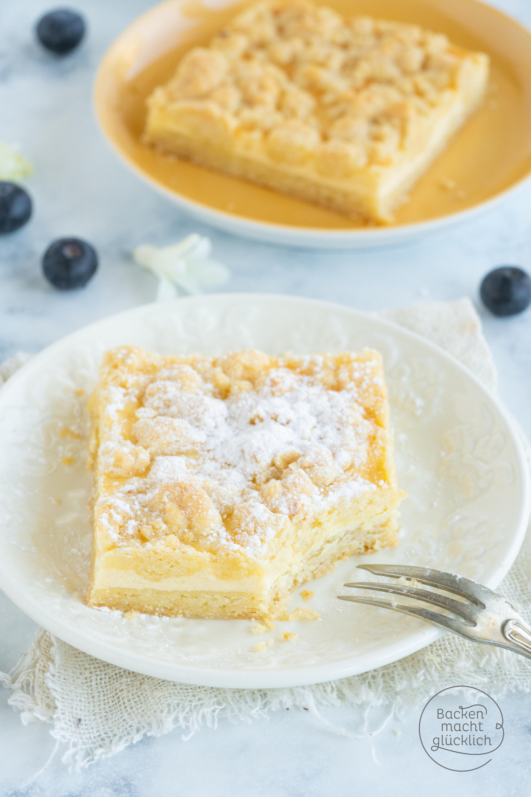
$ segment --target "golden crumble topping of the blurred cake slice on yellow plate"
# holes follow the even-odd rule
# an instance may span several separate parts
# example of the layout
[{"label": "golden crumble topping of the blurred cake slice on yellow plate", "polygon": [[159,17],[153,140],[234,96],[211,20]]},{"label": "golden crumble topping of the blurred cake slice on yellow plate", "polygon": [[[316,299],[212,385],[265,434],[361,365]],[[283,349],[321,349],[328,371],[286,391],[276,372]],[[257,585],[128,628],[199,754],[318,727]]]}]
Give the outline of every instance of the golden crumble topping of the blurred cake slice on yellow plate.
[{"label": "golden crumble topping of the blurred cake slice on yellow plate", "polygon": [[471,54],[420,26],[271,0],[191,49],[148,102],[188,113],[201,135],[344,179],[415,146]]}]

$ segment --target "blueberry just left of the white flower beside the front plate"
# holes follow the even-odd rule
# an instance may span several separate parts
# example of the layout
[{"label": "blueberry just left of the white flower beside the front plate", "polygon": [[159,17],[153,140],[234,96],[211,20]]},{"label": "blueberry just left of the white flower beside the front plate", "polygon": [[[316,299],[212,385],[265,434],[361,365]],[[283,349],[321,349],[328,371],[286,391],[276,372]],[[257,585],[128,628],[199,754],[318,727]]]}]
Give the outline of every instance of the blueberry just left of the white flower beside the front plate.
[{"label": "blueberry just left of the white flower beside the front plate", "polygon": [[42,257],[46,279],[61,291],[83,288],[98,268],[95,249],[80,238],[53,241]]}]

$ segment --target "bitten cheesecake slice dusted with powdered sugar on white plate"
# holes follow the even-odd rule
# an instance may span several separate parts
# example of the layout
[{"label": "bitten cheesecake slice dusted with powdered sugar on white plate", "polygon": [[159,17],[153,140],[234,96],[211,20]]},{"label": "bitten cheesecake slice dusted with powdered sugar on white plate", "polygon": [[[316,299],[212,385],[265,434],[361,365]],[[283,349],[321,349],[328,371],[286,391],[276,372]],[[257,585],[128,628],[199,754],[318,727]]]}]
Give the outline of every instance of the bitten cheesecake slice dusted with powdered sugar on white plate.
[{"label": "bitten cheesecake slice dusted with powdered sugar on white plate", "polygon": [[272,617],[339,559],[396,545],[381,356],[107,352],[89,402],[88,603]]}]

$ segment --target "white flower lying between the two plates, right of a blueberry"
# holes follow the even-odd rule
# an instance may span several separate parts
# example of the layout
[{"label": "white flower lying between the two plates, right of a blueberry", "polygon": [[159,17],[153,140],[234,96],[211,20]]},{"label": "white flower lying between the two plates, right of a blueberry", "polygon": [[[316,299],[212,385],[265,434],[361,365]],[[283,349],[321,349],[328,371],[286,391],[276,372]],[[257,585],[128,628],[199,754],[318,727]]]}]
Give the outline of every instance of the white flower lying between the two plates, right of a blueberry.
[{"label": "white flower lying between the two plates, right of a blueberry", "polygon": [[149,244],[138,246],[133,259],[157,275],[157,301],[165,301],[179,296],[179,289],[185,293],[201,293],[202,287],[220,285],[228,280],[230,272],[225,265],[210,258],[211,249],[209,238],[194,233],[162,249]]}]

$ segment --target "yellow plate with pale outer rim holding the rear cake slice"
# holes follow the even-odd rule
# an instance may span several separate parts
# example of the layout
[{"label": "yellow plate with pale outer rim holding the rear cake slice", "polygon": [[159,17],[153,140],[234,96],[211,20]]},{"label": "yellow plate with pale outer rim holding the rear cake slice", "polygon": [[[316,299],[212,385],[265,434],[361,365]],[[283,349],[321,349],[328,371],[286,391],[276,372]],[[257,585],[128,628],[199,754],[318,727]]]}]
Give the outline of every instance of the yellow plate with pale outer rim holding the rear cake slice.
[{"label": "yellow plate with pale outer rim holding the rear cake slice", "polygon": [[371,14],[447,33],[492,60],[482,107],[416,183],[391,226],[359,226],[332,211],[158,154],[140,140],[146,96],[170,78],[187,49],[209,41],[249,2],[215,5],[170,0],[155,6],[111,45],[95,90],[100,124],[119,154],[203,221],[285,244],[389,244],[464,220],[531,174],[531,33],[478,0],[326,0],[342,14]]}]

